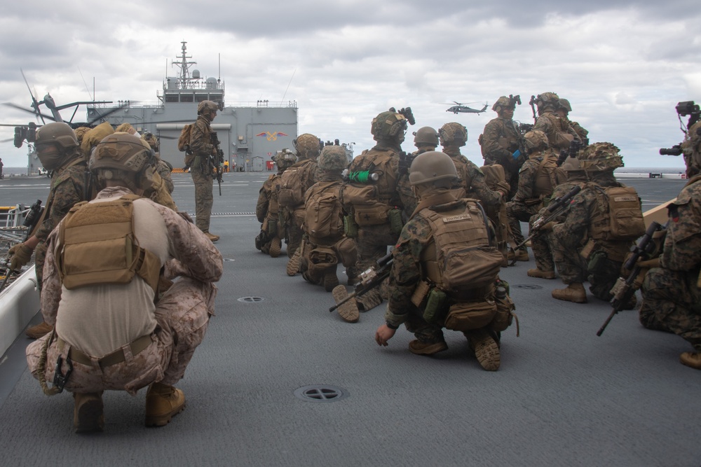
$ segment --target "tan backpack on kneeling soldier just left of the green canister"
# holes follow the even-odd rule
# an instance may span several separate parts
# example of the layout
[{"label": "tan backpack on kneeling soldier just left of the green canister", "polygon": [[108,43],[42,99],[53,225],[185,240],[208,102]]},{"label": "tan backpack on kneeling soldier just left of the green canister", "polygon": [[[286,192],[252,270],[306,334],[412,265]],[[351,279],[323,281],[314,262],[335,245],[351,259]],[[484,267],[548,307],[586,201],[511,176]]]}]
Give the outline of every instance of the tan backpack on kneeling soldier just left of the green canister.
[{"label": "tan backpack on kneeling soldier just left of the green canister", "polygon": [[339,182],[319,186],[313,195],[307,197],[304,206],[304,225],[309,237],[323,239],[339,237],[343,233],[339,190],[332,189]]}]

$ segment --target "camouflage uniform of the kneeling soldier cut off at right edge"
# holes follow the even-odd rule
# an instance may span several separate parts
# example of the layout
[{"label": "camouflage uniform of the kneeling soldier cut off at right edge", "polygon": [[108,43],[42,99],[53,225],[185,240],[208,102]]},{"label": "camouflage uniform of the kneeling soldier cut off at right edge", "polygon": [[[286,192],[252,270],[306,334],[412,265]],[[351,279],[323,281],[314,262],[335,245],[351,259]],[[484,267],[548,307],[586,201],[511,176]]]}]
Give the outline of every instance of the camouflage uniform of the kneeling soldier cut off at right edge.
[{"label": "camouflage uniform of the kneeling soldier cut off at right edge", "polygon": [[642,285],[640,322],[674,333],[701,351],[701,183],[691,179],[669,209],[660,267]]}]

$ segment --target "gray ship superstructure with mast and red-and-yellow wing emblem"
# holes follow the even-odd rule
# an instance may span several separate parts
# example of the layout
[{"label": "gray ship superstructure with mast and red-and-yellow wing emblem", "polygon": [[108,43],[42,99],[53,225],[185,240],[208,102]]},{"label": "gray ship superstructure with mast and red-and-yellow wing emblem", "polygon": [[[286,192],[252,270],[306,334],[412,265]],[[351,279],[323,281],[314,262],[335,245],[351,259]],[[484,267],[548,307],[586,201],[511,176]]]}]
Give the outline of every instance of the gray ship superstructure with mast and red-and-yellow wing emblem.
[{"label": "gray ship superstructure with mast and red-and-yellow wing emblem", "polygon": [[161,158],[173,167],[183,167],[184,153],[177,150],[177,139],[184,125],[197,118],[197,104],[217,102],[221,111],[212,122],[224,151],[224,160],[232,171],[258,172],[272,167],[271,155],[283,148],[293,148],[297,138],[297,102],[258,100],[255,104],[226,106],[224,81],[213,76],[203,78],[196,62],[187,55],[187,43],[172,66],[177,76],[166,76],[158,104],[132,105],[118,101],[117,106],[88,105],[88,120],[104,115],[96,123],[111,125],[130,123],[140,133],[151,132],[161,140]]}]

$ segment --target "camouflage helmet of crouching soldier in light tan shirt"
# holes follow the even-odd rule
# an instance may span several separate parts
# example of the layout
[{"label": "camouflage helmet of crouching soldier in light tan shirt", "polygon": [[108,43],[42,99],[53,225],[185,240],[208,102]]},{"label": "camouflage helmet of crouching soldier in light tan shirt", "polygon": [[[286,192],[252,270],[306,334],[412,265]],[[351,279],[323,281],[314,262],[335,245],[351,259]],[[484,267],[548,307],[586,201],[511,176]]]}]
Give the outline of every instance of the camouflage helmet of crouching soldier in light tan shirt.
[{"label": "camouflage helmet of crouching soldier in light tan shirt", "polygon": [[[116,132],[104,137],[90,154],[90,169],[99,181],[120,179],[128,182],[135,175],[135,185],[146,190],[153,184],[156,156],[143,139],[126,132]],[[130,183],[128,183],[130,184]]]}]

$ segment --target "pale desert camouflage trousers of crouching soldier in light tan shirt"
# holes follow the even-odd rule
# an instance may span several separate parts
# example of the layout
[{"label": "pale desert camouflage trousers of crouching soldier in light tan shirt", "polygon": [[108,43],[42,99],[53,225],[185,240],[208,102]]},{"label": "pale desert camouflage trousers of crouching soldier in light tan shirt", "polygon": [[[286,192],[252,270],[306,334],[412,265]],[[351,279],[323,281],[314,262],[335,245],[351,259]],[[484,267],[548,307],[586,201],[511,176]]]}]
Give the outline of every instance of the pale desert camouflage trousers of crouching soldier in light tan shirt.
[{"label": "pale desert camouflage trousers of crouching soldier in light tan shirt", "polygon": [[[195,349],[205,337],[216,295],[217,287],[209,282],[186,277],[175,281],[156,304],[158,326],[151,334],[149,347],[133,355],[127,344],[122,347],[125,361],[105,367],[98,363],[98,358],[91,358],[91,365],[73,361],[66,389],[76,393],[128,391],[134,395],[153,382],[172,386],[182,379]],[[51,337],[44,372],[47,382],[53,381],[59,356],[63,359],[62,372],[68,370],[66,358],[70,345],[60,346],[50,333],[27,347],[27,365],[39,379],[39,359]]]}]

